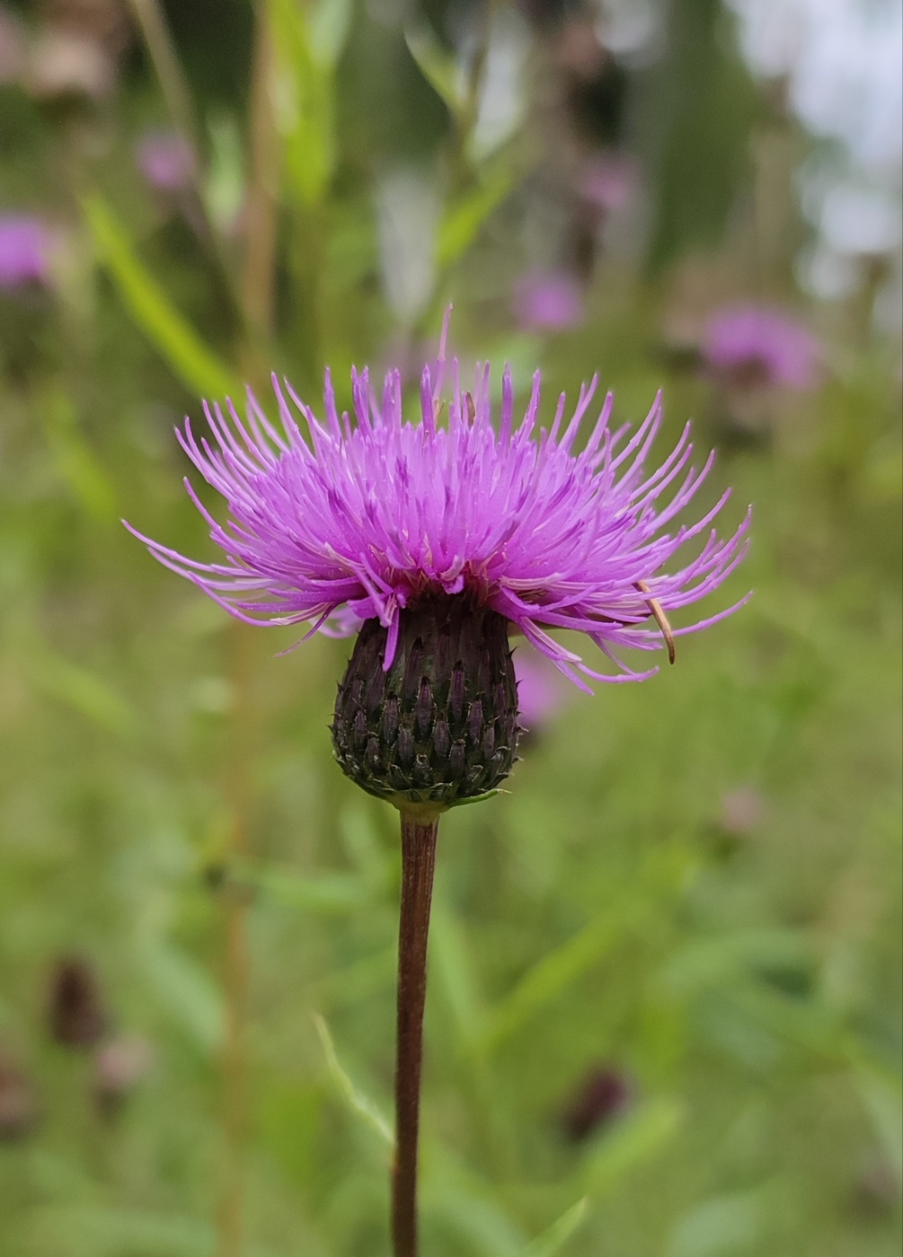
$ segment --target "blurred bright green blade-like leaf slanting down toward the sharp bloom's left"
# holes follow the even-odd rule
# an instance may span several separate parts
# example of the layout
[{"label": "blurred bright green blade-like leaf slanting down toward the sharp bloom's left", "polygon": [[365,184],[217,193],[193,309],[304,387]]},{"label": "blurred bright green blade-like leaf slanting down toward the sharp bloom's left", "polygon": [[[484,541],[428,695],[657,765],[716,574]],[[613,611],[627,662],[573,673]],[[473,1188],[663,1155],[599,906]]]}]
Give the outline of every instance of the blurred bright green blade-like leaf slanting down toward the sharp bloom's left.
[{"label": "blurred bright green blade-like leaf slanting down toward the sharp bloom's left", "polygon": [[130,314],[166,363],[192,392],[223,397],[240,391],[229,367],[197,336],[191,324],[138,260],[126,229],[97,192],[82,201],[101,264],[112,275]]}]

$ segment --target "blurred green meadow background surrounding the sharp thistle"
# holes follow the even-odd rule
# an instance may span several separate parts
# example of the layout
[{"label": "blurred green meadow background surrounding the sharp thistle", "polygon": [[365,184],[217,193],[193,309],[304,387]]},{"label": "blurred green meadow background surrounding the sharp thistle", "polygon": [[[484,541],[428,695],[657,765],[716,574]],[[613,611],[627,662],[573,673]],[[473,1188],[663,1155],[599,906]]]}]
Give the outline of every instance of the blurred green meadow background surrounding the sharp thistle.
[{"label": "blurred green meadow background surrounding the sharp thistle", "polygon": [[119,517],[209,558],[174,424],[414,388],[452,300],[547,419],[692,416],[756,592],[532,678],[444,822],[425,1257],[899,1252],[899,91],[894,0],[0,8],[3,1257],[387,1253],[347,645],[274,659]]}]

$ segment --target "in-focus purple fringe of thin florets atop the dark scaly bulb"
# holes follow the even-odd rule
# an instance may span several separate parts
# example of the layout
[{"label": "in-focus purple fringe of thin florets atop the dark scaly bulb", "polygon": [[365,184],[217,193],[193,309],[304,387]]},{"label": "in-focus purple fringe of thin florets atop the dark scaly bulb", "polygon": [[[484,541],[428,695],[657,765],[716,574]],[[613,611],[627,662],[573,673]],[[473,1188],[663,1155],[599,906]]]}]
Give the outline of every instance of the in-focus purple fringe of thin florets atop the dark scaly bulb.
[{"label": "in-focus purple fringe of thin florets atop the dark scaly bulb", "polygon": [[[366,371],[352,373],[355,424],[340,416],[328,372],[324,421],[275,378],[282,430],[250,392],[247,419],[231,402],[228,414],[205,406],[210,437],[195,436],[187,420],[177,435],[229,504],[228,522],[218,523],[186,481],[224,561],[201,563],[136,535],[240,620],[307,621],[311,634],[337,635],[379,620],[387,632],[386,671],[402,608],[434,595],[468,593],[472,605],[504,617],[582,689],[581,674],[607,681],[653,675],[656,669],[631,671],[614,651],[659,649],[663,635],[670,636],[665,616],[717,590],[745,553],[748,515],[726,541],[712,528],[729,491],[695,523],[669,529],[706,479],[712,456],[702,470],[689,466],[688,425],[665,461],[648,473],[662,425],[659,400],[630,435],[629,426],[610,429],[609,395],[585,430],[595,378],[581,388],[568,422],[562,395],[552,426],[538,429],[540,373],[516,424],[506,370],[496,427],[489,367],[477,367],[468,392],[457,360],[450,366],[448,405],[444,347],[435,373],[424,371],[419,424],[402,417],[397,371],[386,376],[381,396]],[[576,453],[579,435],[585,441]],[[695,538],[699,543],[678,559]],[[548,628],[585,632],[619,671],[592,671]]]}]

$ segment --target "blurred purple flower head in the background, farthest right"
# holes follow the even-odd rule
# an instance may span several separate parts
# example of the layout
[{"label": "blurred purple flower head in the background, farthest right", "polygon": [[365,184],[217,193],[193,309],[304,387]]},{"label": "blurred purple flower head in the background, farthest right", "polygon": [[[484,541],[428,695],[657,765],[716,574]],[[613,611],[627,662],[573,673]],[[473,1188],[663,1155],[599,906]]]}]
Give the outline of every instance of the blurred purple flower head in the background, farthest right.
[{"label": "blurred purple flower head in the background, farthest right", "polygon": [[766,305],[732,305],[709,319],[702,344],[709,368],[729,383],[814,388],[819,342],[801,323]]}]

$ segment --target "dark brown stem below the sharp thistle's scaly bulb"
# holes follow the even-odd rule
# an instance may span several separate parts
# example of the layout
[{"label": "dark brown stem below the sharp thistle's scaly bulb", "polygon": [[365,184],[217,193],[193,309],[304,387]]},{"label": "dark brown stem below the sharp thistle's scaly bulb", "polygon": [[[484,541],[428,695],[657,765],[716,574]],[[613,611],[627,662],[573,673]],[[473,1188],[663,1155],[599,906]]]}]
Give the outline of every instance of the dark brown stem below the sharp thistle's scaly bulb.
[{"label": "dark brown stem below the sharp thistle's scaly bulb", "polygon": [[401,920],[399,925],[397,1040],[395,1046],[395,1165],[392,1251],[418,1254],[418,1129],[438,817],[401,813]]}]

